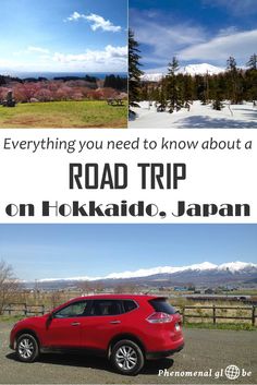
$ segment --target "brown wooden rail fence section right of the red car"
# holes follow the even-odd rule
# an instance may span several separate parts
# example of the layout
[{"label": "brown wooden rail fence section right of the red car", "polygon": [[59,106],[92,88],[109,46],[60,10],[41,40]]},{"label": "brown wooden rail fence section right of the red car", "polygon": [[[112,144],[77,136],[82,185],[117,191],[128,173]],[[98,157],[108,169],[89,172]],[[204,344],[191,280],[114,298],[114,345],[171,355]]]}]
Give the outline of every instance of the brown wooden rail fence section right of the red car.
[{"label": "brown wooden rail fence section right of the red car", "polygon": [[[217,324],[218,320],[241,320],[256,325],[256,306],[178,306],[183,317],[183,323],[188,322],[189,318],[197,320],[211,320],[213,324]],[[227,313],[227,314],[222,314]],[[243,315],[247,313],[247,315]],[[240,315],[235,315],[240,314]]]}]

